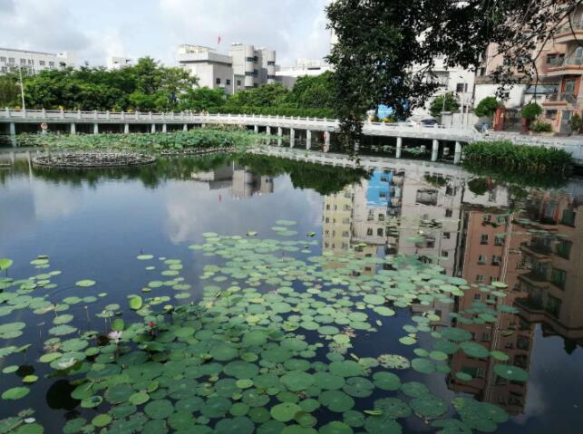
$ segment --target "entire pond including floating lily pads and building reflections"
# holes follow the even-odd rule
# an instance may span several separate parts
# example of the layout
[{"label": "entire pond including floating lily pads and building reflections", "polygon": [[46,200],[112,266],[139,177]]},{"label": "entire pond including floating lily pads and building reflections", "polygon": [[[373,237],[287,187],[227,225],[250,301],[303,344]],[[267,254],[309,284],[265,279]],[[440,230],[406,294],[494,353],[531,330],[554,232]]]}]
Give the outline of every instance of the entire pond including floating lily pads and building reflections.
[{"label": "entire pond including floating lily pads and building reflections", "polygon": [[2,161],[0,432],[583,429],[581,180]]}]

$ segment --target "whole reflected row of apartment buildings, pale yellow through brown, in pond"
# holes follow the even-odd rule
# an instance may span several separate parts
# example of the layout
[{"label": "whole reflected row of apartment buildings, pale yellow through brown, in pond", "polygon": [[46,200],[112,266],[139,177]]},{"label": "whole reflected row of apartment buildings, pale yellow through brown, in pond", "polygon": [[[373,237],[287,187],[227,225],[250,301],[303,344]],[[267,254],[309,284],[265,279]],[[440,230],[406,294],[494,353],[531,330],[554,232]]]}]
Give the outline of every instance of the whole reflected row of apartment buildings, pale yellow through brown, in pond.
[{"label": "whole reflected row of apartment buildings, pale yellow through brown, in pond", "polygon": [[[325,198],[323,250],[413,255],[442,265],[446,275],[463,277],[470,288],[455,304],[413,304],[412,312],[434,311],[440,321],[431,323],[432,330],[460,327],[473,342],[530,371],[535,323],[542,323],[545,335],[560,334],[572,345],[583,341],[581,197],[507,188],[491,179],[468,181],[426,168],[376,171]],[[362,273],[374,274],[374,265]],[[493,282],[508,285],[505,296],[481,291]],[[495,320],[481,318],[472,313],[477,306],[499,314]],[[464,312],[471,323],[450,314]],[[493,371],[498,363],[455,352],[447,385],[519,415],[528,382],[500,378]],[[472,380],[460,380],[458,371]]]}]

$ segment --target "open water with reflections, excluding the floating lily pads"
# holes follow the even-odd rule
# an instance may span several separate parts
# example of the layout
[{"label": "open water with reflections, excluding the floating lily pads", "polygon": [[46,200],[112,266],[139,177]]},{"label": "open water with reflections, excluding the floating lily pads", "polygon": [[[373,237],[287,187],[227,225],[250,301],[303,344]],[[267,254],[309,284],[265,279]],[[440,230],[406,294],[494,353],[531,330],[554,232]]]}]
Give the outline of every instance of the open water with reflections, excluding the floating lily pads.
[{"label": "open water with reflections, excluding the floating lily pads", "polygon": [[[496,432],[583,432],[580,180],[541,190],[423,162],[399,161],[364,174],[227,157],[162,160],[143,169],[62,172],[32,169],[21,156],[0,169],[0,257],[14,260],[7,275],[44,273],[29,263],[46,255],[51,270],[63,271],[53,279],[56,288],[38,290],[52,303],[72,295],[107,293],[87,309],[71,305],[73,323],[80,330],[106,333],[107,321],[94,314],[106,304],[126,306],[127,295],[139,294],[154,278],[136,256],[180,259],[180,275],[192,285],[196,300],[204,265],[217,262],[189,245],[202,243],[202,234],[208,232],[245,236],[253,230],[261,237],[281,239],[271,230],[279,219],[296,222],[297,236],[291,239],[306,240],[309,255],[342,256],[356,248],[364,257],[415,256],[425,264],[441,265],[445,275],[462,277],[470,285],[452,303],[416,301],[407,308],[395,307],[395,316],[378,317],[382,324],[376,333],[356,333],[346,357],[394,353],[413,359],[419,355],[415,349],[431,352],[428,333],[420,333],[414,345],[398,341],[412,316],[431,310],[437,315],[429,324],[432,332],[461,328],[488,351],[507,354],[508,363],[528,371],[530,378],[505,380],[493,371],[497,362],[491,358],[458,351],[446,361],[452,373],[394,371],[402,381],[422,381],[447,401],[473,396],[500,406],[510,420]],[[311,232],[315,235],[306,237]],[[365,266],[357,273],[374,275],[381,266]],[[97,289],[73,285],[81,279],[97,281]],[[480,285],[497,281],[508,285],[505,296],[480,290]],[[171,296],[172,291],[157,294]],[[515,309],[493,321],[459,321],[458,313],[476,303]],[[91,420],[97,413],[82,409],[69,396],[73,386],[64,377],[49,376],[50,368],[37,362],[51,337],[46,333],[47,323],[52,325],[50,314],[17,310],[0,317],[0,323],[27,323],[24,335],[3,339],[3,345],[32,343],[26,354],[0,359],[2,368],[20,366],[15,373],[1,374],[0,389],[22,385],[22,378],[33,372],[40,377],[26,397],[5,401],[9,405],[0,407],[0,417],[31,408],[45,432],[60,432],[66,420],[79,415]],[[464,372],[471,380],[453,372]],[[372,409],[374,398],[355,398],[355,408]],[[318,420],[342,420],[342,414],[320,411]],[[404,432],[436,430],[414,416],[400,422]]]}]

